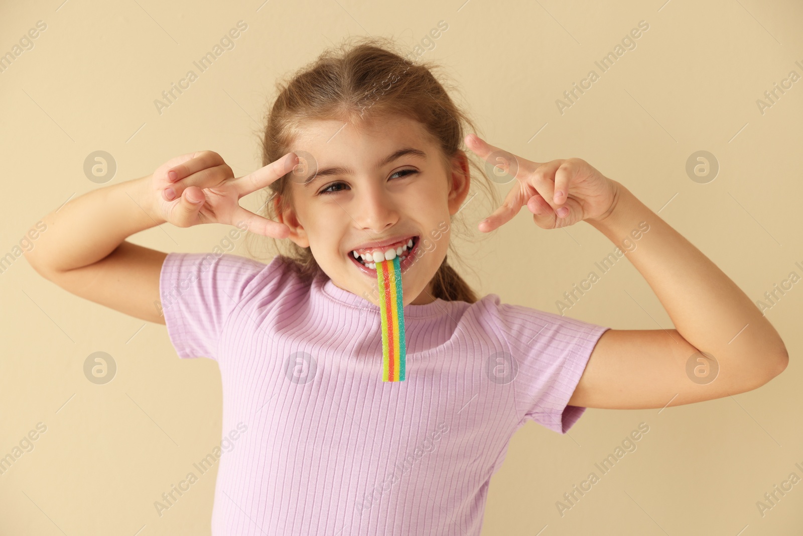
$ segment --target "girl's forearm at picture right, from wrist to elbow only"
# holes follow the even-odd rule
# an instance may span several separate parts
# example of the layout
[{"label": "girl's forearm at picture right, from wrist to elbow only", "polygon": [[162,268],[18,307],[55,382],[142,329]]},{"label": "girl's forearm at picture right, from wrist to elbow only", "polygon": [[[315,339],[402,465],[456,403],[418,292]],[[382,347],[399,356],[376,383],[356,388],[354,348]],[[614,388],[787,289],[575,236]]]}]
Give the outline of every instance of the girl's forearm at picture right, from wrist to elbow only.
[{"label": "girl's forearm at picture right, from wrist to elbow only", "polygon": [[[698,350],[734,366],[771,368],[768,372],[785,366],[781,337],[750,298],[683,235],[617,185],[613,211],[604,219],[586,221],[623,252],[623,239],[637,244],[626,256],[650,284],[678,333]],[[642,222],[649,231],[634,241],[630,233]]]}]

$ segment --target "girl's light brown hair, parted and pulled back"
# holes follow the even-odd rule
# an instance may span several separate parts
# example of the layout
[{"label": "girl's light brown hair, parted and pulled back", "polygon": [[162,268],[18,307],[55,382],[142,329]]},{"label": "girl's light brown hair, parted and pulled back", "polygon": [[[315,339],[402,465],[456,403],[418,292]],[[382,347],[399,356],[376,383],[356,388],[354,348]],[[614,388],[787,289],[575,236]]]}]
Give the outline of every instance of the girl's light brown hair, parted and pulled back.
[{"label": "girl's light brown hair, parted and pulled back", "polygon": [[[357,43],[350,43],[354,39]],[[441,149],[440,157],[450,175],[450,159],[462,150],[466,129],[470,129],[468,132],[477,132],[477,129],[432,74],[439,68],[437,64],[414,63],[396,49],[397,45],[389,39],[346,39],[340,46],[322,52],[289,80],[278,82],[278,96],[267,113],[261,134],[262,165],[267,166],[292,150],[291,144],[305,121],[346,118],[350,123],[357,123],[367,117],[399,116],[423,125]],[[476,183],[486,190],[496,207],[496,191],[491,181],[471,158],[468,164],[483,178],[483,181],[472,181],[472,185]],[[262,214],[266,218],[275,219],[277,212],[293,207],[290,177],[288,173],[267,187]],[[275,200],[278,207],[275,207]],[[454,216],[451,219],[454,220]],[[323,273],[310,248],[301,248],[291,240],[272,240],[279,257],[302,279],[312,280]],[[283,252],[282,243],[289,249]],[[451,244],[449,251],[452,251]],[[465,280],[446,263],[446,258],[432,283],[433,297],[468,303],[478,299]]]}]

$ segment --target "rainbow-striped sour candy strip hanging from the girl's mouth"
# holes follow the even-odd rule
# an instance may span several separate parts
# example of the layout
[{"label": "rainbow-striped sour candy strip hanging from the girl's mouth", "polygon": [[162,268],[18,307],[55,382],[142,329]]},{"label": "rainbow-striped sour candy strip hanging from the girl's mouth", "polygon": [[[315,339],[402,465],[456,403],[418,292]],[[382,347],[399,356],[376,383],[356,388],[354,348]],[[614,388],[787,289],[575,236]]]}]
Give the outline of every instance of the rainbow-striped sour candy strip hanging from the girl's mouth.
[{"label": "rainbow-striped sour candy strip hanging from the girl's mouth", "polygon": [[377,263],[377,283],[382,317],[382,381],[403,382],[406,346],[402,270],[398,257]]}]

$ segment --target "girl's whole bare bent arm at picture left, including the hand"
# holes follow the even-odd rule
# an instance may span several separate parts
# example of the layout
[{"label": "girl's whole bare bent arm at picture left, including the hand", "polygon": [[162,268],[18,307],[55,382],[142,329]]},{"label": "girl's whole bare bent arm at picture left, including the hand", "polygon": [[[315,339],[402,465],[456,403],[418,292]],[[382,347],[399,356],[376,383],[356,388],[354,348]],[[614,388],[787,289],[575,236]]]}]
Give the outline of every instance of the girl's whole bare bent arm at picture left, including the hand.
[{"label": "girl's whole bare bent arm at picture left, including the hand", "polygon": [[164,324],[159,275],[167,254],[125,239],[165,222],[178,227],[228,223],[286,237],[286,225],[255,215],[238,202],[291,172],[297,162],[294,153],[287,153],[234,178],[213,151],[173,158],[147,177],[93,190],[45,216],[46,231],[25,257],[40,275],[76,296]]}]

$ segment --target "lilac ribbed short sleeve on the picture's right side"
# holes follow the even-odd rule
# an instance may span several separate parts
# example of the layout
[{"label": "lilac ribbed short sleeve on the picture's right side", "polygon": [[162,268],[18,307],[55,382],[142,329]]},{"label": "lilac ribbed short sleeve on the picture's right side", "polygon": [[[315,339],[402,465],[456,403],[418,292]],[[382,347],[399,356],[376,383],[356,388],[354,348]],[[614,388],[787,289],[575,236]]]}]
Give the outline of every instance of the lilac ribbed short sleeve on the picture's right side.
[{"label": "lilac ribbed short sleeve on the picture's right side", "polygon": [[499,305],[512,355],[516,413],[565,434],[585,412],[569,406],[591,352],[609,327],[523,305]]}]

